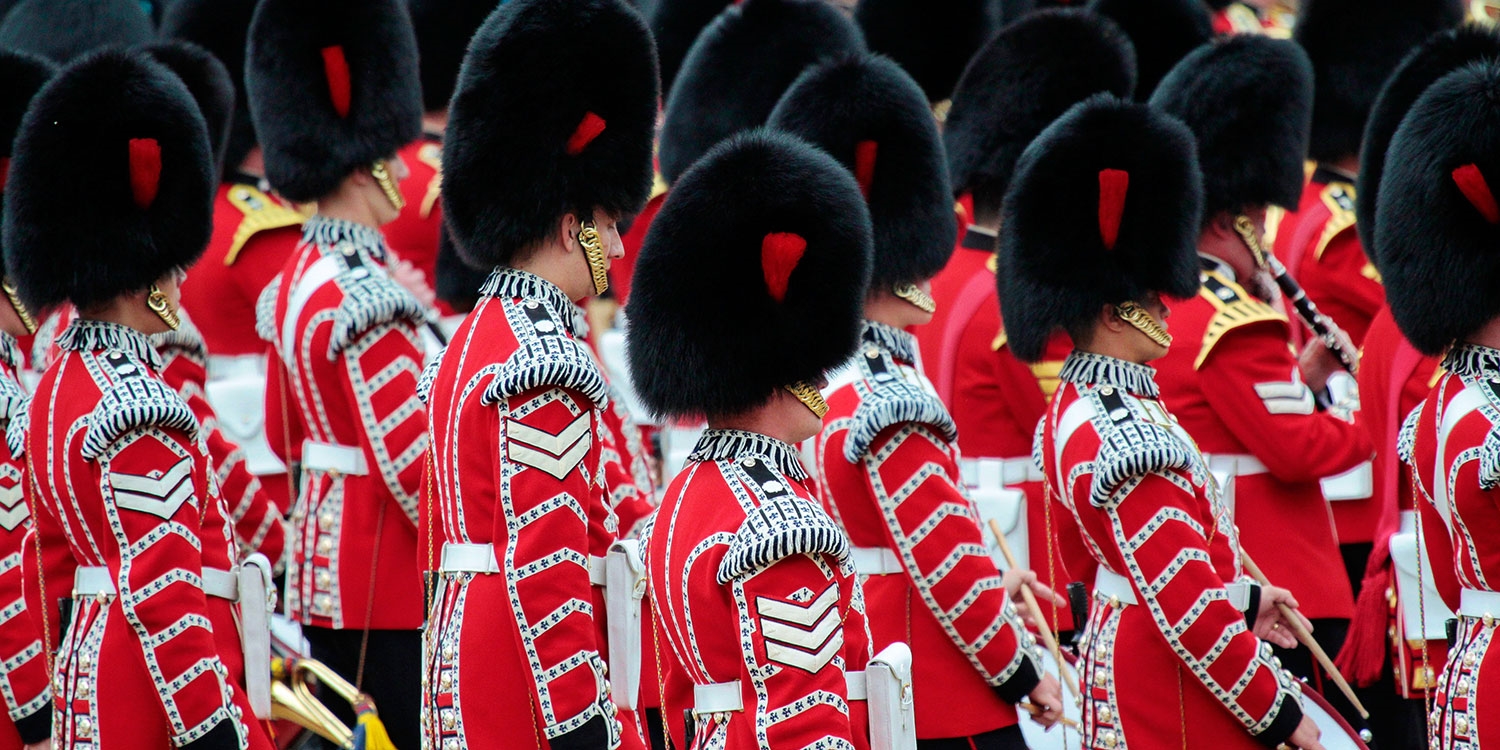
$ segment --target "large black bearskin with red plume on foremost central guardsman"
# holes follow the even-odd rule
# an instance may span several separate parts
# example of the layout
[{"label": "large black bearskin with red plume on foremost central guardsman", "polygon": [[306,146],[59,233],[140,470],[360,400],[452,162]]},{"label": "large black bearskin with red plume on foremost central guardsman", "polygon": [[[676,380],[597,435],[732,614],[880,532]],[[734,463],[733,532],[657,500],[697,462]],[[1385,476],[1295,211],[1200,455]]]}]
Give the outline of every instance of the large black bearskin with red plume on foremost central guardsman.
[{"label": "large black bearskin with red plume on foremost central guardsman", "polygon": [[818,382],[860,339],[870,212],[848,170],[776,130],[729,138],[651,222],[630,372],[657,416],[726,416]]}]

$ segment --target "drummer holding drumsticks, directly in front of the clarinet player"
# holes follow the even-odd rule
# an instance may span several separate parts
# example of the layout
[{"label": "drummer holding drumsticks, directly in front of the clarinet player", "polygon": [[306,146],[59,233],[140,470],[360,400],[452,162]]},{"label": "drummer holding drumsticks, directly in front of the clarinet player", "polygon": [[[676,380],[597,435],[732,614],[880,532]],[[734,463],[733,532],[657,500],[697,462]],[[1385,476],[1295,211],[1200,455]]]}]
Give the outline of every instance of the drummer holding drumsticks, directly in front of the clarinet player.
[{"label": "drummer holding drumsticks, directly in front of the clarinet player", "polygon": [[1083,744],[1317,748],[1262,640],[1292,644],[1284,598],[1242,580],[1230,508],[1146,364],[1172,340],[1162,296],[1198,288],[1200,180],[1186,128],[1100,94],[1036,138],[1005,201],[1010,342],[1028,360],[1054,327],[1074,344],[1035,456],[1100,562]]}]

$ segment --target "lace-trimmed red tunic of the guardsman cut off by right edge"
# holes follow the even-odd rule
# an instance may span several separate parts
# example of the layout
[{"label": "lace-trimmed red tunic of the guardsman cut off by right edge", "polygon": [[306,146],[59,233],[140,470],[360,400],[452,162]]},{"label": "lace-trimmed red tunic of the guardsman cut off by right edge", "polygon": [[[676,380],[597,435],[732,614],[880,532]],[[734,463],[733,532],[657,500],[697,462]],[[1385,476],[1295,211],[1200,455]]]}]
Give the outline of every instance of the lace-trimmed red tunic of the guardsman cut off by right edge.
[{"label": "lace-trimmed red tunic of the guardsman cut off by right edge", "polygon": [[[1428,717],[1431,747],[1500,742],[1500,351],[1456,345],[1448,370],[1406,422],[1401,458],[1416,476],[1426,562],[1458,638]],[[1494,576],[1494,578],[1491,578]]]}]

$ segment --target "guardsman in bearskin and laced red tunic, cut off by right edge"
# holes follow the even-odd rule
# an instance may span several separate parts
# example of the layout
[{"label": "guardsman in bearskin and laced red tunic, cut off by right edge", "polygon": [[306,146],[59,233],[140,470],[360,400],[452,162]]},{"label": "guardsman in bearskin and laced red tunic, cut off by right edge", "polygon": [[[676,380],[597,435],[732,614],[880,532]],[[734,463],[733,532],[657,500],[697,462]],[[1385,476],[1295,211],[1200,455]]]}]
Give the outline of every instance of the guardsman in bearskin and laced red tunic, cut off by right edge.
[{"label": "guardsman in bearskin and laced red tunic, cut off by right edge", "polygon": [[[1500,592],[1500,66],[1455,69],[1390,138],[1376,202],[1390,312],[1443,370],[1401,429],[1419,525],[1443,602],[1458,612],[1428,716],[1430,747],[1500,742],[1492,646]],[[1488,746],[1486,746],[1488,742]]]}]

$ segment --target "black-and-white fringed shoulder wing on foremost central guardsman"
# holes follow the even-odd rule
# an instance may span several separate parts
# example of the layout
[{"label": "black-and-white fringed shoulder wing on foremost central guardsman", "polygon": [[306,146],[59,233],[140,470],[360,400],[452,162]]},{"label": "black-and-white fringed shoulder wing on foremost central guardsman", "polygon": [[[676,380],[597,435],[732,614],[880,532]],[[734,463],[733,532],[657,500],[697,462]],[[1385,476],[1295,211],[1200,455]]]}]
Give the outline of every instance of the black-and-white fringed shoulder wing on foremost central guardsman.
[{"label": "black-and-white fringed shoulder wing on foremost central guardsman", "polygon": [[796,496],[790,482],[768,462],[748,458],[726,462],[729,482],[744,482],[759,501],[718,562],[718,582],[748,578],[792,555],[849,558],[849,537],[824,508]]}]

